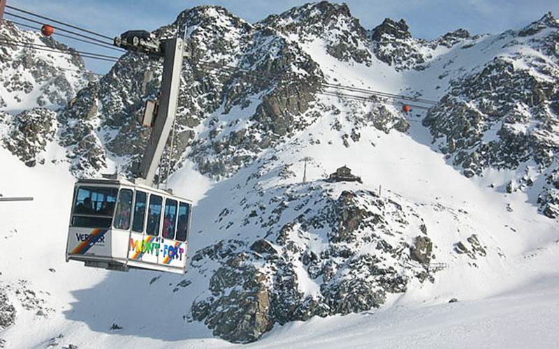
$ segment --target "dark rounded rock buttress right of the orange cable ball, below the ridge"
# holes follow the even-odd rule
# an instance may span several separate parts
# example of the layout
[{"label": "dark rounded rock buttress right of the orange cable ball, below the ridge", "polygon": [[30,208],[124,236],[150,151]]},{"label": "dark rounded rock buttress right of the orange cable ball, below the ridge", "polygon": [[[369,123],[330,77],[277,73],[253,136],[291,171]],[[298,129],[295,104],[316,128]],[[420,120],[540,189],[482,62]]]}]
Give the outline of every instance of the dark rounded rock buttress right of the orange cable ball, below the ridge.
[{"label": "dark rounded rock buttress right of the orange cable ball, below the ridge", "polygon": [[[551,130],[546,130],[546,122],[556,119],[556,115],[539,105],[553,103],[557,98],[553,96],[553,84],[537,81],[526,70],[515,70],[509,61],[495,60],[481,73],[454,86],[444,98],[444,106],[430,112],[423,124],[430,126],[435,138],[447,136],[447,145],[441,149],[447,154],[456,153],[455,165],[479,174],[490,165],[517,168],[532,156],[541,165],[551,163]],[[453,96],[467,96],[470,103],[458,103]],[[527,115],[518,105],[532,110],[535,120],[541,120],[531,135],[519,129],[527,121]],[[452,117],[443,120],[441,110]],[[496,128],[498,139],[484,142],[482,138],[491,128]],[[474,151],[463,151],[472,148]]]}]

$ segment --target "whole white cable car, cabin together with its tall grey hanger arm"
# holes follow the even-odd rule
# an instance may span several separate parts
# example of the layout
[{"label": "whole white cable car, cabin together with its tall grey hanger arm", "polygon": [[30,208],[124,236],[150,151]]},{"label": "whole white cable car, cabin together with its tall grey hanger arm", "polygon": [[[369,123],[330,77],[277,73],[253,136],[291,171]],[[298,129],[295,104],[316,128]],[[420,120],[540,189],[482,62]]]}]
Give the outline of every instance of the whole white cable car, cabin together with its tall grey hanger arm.
[{"label": "whole white cable car, cabin together with its tall grey hanger arm", "polygon": [[[165,60],[160,105],[157,117],[149,108],[145,111],[144,124],[149,120],[152,138],[134,171],[136,179],[131,182],[115,176],[76,182],[66,262],[78,260],[88,267],[122,271],[185,272],[192,202],[152,187],[175,121],[185,54],[181,38],[162,41]],[[173,138],[170,143],[172,154]]]}]

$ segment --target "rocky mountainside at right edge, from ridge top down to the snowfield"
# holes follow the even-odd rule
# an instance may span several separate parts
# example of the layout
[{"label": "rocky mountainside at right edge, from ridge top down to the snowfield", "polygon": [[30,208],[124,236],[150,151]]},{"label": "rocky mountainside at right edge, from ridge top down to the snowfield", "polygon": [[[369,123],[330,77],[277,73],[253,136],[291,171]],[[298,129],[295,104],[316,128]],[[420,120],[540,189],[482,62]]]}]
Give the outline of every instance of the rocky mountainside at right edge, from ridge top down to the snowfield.
[{"label": "rocky mountainside at right edge, from ridge top down to the snowfield", "polygon": [[[472,177],[486,168],[518,170],[507,191],[544,181],[540,209],[556,216],[559,150],[558,22],[548,14],[498,40],[511,53],[451,82],[449,93],[423,119],[439,149]],[[522,38],[522,39],[521,39]],[[534,52],[523,50],[528,40]],[[551,54],[549,60],[538,54]],[[467,102],[464,102],[467,101]]]}]

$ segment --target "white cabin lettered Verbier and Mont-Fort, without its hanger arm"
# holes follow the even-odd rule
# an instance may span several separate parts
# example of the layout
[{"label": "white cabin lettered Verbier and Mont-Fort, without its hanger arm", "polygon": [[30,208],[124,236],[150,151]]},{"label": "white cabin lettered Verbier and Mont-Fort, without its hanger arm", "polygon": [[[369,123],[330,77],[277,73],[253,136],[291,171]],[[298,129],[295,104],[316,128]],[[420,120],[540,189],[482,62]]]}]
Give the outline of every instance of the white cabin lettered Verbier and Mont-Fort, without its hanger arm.
[{"label": "white cabin lettered Verbier and Mont-Fort, without its hanger arm", "polygon": [[192,202],[124,179],[74,187],[66,262],[184,274]]}]

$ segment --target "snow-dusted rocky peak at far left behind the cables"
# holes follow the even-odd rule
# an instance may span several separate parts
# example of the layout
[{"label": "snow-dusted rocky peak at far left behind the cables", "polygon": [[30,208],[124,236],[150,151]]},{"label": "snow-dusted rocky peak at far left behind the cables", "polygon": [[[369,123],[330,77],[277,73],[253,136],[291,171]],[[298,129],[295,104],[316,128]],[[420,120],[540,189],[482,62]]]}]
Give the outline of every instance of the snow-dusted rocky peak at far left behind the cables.
[{"label": "snow-dusted rocky peak at far left behind the cables", "polygon": [[[75,50],[34,31],[18,29],[9,20],[2,23],[0,40],[5,42],[0,58],[1,143],[32,167],[44,163],[48,144],[57,140],[58,131],[64,132],[66,124],[59,124],[56,111],[66,106],[92,75]],[[80,140],[80,135],[73,136]]]}]

